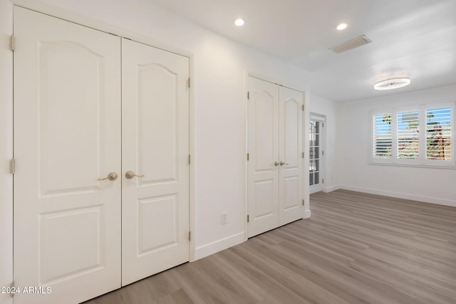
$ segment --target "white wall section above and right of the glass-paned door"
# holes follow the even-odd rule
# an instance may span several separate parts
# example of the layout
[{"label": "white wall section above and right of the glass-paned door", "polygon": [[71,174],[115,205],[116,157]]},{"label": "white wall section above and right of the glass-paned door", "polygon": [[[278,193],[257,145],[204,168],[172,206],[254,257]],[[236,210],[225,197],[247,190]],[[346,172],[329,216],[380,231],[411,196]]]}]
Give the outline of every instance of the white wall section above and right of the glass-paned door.
[{"label": "white wall section above and right of the glass-paned door", "polygon": [[[324,162],[322,184],[323,192],[331,192],[339,187],[339,176],[337,167],[338,149],[336,138],[338,136],[338,105],[331,100],[319,96],[310,95],[309,112],[326,116],[323,133],[323,147],[325,154],[321,157]],[[309,130],[309,128],[306,128]]]}]

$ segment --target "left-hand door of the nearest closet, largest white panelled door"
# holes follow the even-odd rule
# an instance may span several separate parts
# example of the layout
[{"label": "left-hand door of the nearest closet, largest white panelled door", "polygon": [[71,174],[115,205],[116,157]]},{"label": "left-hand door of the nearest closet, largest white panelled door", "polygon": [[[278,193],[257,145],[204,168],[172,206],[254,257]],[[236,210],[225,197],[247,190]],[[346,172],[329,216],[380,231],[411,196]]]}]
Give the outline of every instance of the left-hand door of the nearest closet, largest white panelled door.
[{"label": "left-hand door of the nearest closet, largest white panelled door", "polygon": [[[120,38],[15,7],[14,303],[120,287]],[[48,288],[48,289],[46,289]],[[41,294],[46,293],[46,294]]]}]

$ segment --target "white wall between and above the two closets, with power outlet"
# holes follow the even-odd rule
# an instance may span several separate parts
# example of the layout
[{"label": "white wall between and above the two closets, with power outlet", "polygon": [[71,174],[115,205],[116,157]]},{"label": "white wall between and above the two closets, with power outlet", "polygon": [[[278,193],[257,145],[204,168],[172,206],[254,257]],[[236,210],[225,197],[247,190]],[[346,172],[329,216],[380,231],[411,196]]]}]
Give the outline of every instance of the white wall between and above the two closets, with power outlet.
[{"label": "white wall between and above the two closets, with power outlet", "polygon": [[[306,90],[306,71],[193,25],[152,0],[12,0],[190,57],[195,256],[244,241],[246,75]],[[247,30],[247,28],[246,28]],[[220,224],[220,213],[228,224]]]}]

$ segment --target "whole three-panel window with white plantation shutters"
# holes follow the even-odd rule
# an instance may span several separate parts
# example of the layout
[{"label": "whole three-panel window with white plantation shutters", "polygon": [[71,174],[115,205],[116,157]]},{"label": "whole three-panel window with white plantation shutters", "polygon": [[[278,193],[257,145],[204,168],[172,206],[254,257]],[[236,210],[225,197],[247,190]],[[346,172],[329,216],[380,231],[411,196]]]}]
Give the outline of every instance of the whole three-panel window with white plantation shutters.
[{"label": "whole three-panel window with white plantation shutters", "polygon": [[455,103],[371,112],[371,163],[455,167]]}]

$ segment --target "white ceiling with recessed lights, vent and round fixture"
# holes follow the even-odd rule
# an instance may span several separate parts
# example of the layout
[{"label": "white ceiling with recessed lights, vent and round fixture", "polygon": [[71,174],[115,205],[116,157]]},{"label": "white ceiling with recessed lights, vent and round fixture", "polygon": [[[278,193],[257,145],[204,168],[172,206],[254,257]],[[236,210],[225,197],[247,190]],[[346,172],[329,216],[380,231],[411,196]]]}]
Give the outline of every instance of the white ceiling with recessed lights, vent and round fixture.
[{"label": "white ceiling with recessed lights, vent and round fixture", "polygon": [[[456,83],[456,0],[149,0],[311,73],[311,93],[336,102]],[[237,27],[241,17],[245,25]],[[337,31],[338,23],[348,28]],[[366,35],[344,53],[332,46]],[[390,75],[411,84],[373,85]]]}]

